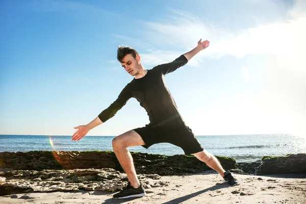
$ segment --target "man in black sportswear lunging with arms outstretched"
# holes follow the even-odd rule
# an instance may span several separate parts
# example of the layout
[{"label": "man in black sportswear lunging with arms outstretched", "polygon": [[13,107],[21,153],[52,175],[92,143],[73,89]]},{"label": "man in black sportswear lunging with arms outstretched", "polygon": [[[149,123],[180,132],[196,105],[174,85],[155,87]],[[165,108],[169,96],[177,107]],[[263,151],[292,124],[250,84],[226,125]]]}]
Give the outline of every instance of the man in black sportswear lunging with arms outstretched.
[{"label": "man in black sportswear lunging with arms outstretched", "polygon": [[136,98],[140,106],[146,110],[150,120],[149,124],[123,133],[113,139],[112,144],[116,157],[129,178],[127,186],[121,192],[114,194],[114,198],[145,195],[144,188],[136,175],[133,158],[127,147],[141,145],[148,148],[153,144],[162,142],[181,147],[186,155],[193,154],[209,167],[218,171],[231,186],[238,184],[231,172],[225,172],[217,158],[203,149],[191,129],[186,126],[164,81],[165,74],[185,65],[198,52],[207,48],[209,44],[208,40],[201,42],[200,39],[198,45],[190,52],[171,63],[158,65],[150,70],[142,66],[141,58],[135,49],[124,46],[118,47],[117,59],[134,79],[124,87],[114,103],[101,112],[97,118],[87,125],[74,127],[78,131],[72,136],[72,140],[80,140],[89,130],[113,117],[131,97]]}]

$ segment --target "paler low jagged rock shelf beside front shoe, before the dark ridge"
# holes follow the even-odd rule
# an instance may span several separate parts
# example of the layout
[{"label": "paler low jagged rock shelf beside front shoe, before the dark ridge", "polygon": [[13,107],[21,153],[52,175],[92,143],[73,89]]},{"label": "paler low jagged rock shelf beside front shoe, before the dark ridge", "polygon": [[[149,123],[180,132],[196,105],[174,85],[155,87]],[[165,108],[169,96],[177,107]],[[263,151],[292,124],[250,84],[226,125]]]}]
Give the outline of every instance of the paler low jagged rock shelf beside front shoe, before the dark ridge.
[{"label": "paler low jagged rock shelf beside front shoe, before the dark ridge", "polygon": [[[0,172],[0,196],[29,192],[116,191],[127,184],[127,176],[114,169],[13,170]],[[157,174],[138,175],[144,188],[167,186]],[[159,181],[157,181],[159,180]]]}]

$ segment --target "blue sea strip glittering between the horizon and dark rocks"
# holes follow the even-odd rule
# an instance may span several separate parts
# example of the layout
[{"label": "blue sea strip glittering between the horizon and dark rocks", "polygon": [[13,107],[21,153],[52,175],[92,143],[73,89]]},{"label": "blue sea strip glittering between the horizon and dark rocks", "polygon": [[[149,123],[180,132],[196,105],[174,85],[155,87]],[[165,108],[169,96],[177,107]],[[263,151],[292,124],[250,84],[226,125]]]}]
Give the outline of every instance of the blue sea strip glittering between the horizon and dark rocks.
[{"label": "blue sea strip glittering between the horizon and dark rocks", "polygon": [[[0,152],[113,150],[113,138],[86,136],[80,141],[72,141],[71,136],[0,135]],[[306,153],[306,138],[289,134],[197,136],[197,139],[211,154],[234,157],[237,162],[253,162],[263,156]],[[180,147],[168,143],[155,144],[148,149],[130,147],[129,150],[167,156],[184,154]]]}]

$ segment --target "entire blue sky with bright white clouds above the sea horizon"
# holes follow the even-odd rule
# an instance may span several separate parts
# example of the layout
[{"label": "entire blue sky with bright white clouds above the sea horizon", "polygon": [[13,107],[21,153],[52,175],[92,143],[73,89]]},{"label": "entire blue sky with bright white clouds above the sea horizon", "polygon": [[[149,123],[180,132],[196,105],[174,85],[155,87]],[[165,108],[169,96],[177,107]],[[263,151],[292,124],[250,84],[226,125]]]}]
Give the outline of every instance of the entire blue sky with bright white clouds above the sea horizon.
[{"label": "entire blue sky with bright white clouds above the sea horizon", "polygon": [[[195,135],[306,136],[303,1],[1,1],[0,134],[72,135],[133,78],[116,61],[129,45],[146,69],[210,46],[166,75]],[[132,98],[88,135],[148,123]]]}]

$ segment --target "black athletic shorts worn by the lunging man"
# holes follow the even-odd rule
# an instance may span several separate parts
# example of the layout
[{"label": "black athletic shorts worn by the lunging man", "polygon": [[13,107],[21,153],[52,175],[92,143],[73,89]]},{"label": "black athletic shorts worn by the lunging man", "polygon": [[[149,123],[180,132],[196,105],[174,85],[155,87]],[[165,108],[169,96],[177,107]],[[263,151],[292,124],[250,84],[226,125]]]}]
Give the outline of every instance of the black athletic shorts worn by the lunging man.
[{"label": "black athletic shorts worn by the lunging man", "polygon": [[204,148],[196,139],[192,130],[185,125],[177,127],[159,127],[150,124],[145,127],[134,129],[138,133],[145,145],[144,148],[149,148],[157,143],[170,143],[181,147],[185,155],[190,155],[202,151]]}]

